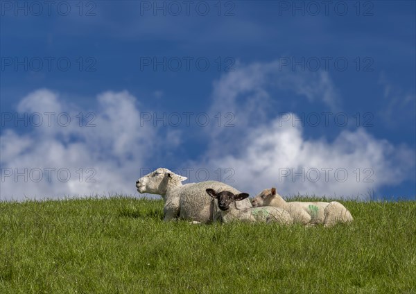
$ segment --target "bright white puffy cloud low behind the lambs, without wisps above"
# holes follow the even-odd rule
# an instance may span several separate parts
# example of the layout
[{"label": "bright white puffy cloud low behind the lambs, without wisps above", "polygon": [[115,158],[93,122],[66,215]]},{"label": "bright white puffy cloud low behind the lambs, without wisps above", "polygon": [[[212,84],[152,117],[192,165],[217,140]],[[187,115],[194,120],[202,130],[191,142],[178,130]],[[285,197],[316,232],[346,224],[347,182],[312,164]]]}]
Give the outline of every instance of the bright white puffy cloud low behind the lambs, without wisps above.
[{"label": "bright white puffy cloud low behind the lambs, without wisps above", "polygon": [[249,130],[234,144],[243,146],[239,155],[229,152],[199,165],[213,171],[232,168],[236,187],[252,196],[273,186],[289,196],[363,198],[369,189],[377,191],[411,178],[415,168],[409,148],[375,139],[362,128],[345,130],[333,142],[308,140],[301,127],[274,119],[268,126]]}]

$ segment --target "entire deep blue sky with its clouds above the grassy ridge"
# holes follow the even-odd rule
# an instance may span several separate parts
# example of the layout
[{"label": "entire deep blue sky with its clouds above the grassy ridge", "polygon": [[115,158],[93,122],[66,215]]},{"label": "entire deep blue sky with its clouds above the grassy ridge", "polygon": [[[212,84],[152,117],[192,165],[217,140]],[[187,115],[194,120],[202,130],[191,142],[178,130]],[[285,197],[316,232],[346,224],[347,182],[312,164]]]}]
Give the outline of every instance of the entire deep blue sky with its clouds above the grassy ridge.
[{"label": "entire deep blue sky with its clouds above the grassy ridge", "polygon": [[415,200],[414,1],[155,3],[1,1],[1,199],[139,196],[162,166]]}]

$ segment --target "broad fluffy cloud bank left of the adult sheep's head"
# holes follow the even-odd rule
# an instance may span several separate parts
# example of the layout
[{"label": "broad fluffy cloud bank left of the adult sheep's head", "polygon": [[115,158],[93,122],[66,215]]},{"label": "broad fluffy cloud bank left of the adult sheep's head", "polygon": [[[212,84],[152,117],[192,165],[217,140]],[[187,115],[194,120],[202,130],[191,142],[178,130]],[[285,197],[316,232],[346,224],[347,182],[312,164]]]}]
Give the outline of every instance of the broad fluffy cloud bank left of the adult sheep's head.
[{"label": "broad fluffy cloud bank left of the adult sheep's head", "polygon": [[139,105],[128,92],[98,95],[96,108],[85,111],[40,89],[17,111],[2,121],[3,200],[134,193],[139,166],[157,141],[154,128],[139,127]]}]

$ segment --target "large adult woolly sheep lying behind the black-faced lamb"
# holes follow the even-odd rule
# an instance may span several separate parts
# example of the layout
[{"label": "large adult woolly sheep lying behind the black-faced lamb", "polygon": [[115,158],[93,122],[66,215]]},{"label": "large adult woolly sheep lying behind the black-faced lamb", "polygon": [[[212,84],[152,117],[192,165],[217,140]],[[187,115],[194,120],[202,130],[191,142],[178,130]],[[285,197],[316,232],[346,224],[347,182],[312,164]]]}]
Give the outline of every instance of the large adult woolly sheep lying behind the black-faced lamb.
[{"label": "large adult woolly sheep lying behind the black-faced lamb", "polygon": [[[164,220],[184,218],[193,223],[209,223],[220,218],[218,209],[214,209],[214,200],[205,192],[208,188],[216,191],[240,193],[233,187],[217,181],[182,184],[187,180],[167,168],[157,168],[136,182],[139,193],[159,194],[164,199]],[[252,207],[250,200],[239,201],[239,209]]]}]

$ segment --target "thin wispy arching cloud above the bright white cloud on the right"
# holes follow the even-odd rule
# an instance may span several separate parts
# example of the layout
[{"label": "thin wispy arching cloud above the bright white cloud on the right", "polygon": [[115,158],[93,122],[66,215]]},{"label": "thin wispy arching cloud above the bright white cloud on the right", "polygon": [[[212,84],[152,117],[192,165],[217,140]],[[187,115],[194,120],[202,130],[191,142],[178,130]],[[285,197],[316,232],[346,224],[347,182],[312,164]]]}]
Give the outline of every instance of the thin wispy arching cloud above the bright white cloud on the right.
[{"label": "thin wispy arching cloud above the bright white cloud on the right", "polygon": [[300,96],[300,103],[306,98],[331,111],[340,108],[340,96],[326,72],[293,72],[281,67],[279,61],[237,64],[236,67],[238,70],[225,74],[214,83],[213,103],[209,110],[211,116],[227,112],[234,116],[232,123],[237,128],[209,128],[211,141],[215,144],[225,134],[230,139],[227,144],[223,143],[223,148],[235,147],[233,139],[241,137],[241,131],[266,123],[270,119],[270,109],[276,109],[276,114],[279,112],[273,103],[277,99],[270,97],[270,89],[295,93]]}]

